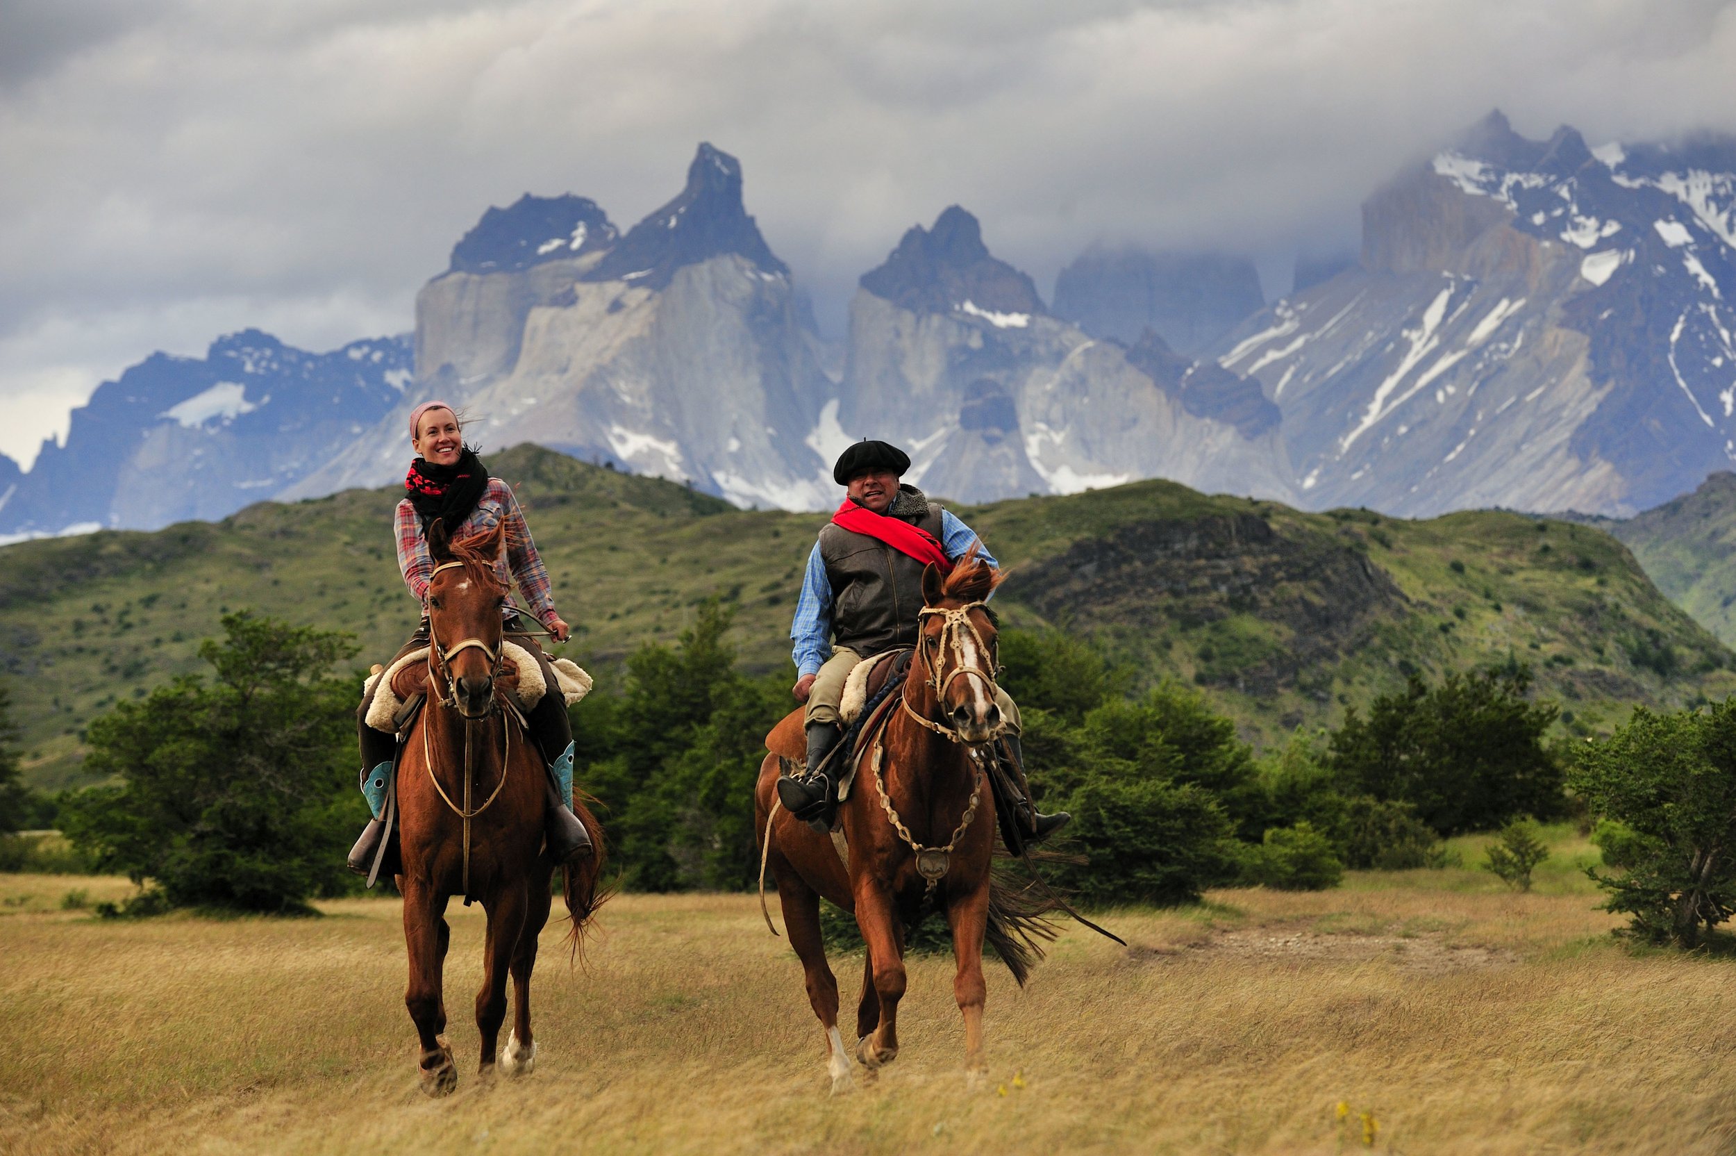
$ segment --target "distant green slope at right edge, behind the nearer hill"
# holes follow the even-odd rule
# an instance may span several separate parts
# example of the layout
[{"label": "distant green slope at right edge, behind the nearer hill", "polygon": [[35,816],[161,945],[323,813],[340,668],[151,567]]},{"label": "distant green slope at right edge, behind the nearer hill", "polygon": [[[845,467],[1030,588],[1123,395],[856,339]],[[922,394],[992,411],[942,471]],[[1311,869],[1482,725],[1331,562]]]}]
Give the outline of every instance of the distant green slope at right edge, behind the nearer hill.
[{"label": "distant green slope at right edge, behind the nearer hill", "polygon": [[1587,519],[1634,550],[1658,588],[1726,644],[1736,644],[1736,474],[1635,517]]}]

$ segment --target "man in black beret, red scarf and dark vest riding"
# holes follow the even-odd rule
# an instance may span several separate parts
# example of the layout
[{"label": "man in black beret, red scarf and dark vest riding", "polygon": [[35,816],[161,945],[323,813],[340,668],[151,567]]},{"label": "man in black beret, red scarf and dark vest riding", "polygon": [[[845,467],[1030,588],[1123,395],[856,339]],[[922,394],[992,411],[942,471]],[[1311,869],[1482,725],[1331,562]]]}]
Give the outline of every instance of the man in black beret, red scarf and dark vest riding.
[{"label": "man in black beret, red scarf and dark vest riding", "polygon": [[[845,450],[832,479],[845,488],[847,498],[807,555],[790,627],[800,673],[792,693],[806,705],[807,774],[779,779],[778,798],[795,818],[816,826],[832,823],[837,772],[826,755],[844,734],[838,708],[851,670],[875,654],[915,646],[925,566],[948,571],[972,547],[977,559],[996,564],[957,516],[899,483],[908,469],[910,456],[884,441],[859,441]],[[1019,793],[1010,802],[1024,842],[1042,840],[1069,816],[1038,814],[1031,805],[1019,750],[1019,708],[1007,691],[996,693],[990,710],[1005,727],[996,750]]]}]

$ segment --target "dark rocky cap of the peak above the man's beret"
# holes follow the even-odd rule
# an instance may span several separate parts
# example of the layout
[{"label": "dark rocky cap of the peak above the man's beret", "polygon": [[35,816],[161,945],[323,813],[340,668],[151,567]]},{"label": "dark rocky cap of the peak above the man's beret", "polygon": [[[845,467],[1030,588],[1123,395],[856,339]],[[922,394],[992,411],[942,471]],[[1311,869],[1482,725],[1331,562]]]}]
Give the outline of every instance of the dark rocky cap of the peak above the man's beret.
[{"label": "dark rocky cap of the peak above the man's beret", "polygon": [[863,274],[861,286],[911,312],[995,314],[996,325],[1010,318],[1024,325],[1047,312],[1031,278],[996,260],[983,243],[983,226],[958,205],[941,212],[932,229],[911,226],[885,264]]}]

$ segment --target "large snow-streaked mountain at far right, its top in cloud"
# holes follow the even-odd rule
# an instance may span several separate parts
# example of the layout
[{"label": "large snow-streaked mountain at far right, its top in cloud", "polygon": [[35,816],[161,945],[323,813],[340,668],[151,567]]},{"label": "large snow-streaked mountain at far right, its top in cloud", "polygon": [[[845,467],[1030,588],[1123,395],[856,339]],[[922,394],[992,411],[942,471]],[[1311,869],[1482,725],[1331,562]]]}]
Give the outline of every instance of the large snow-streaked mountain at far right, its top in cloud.
[{"label": "large snow-streaked mountain at far right, its top in cloud", "polygon": [[1736,142],[1543,142],[1500,113],[1363,207],[1356,269],[1213,354],[1302,500],[1625,516],[1736,458]]}]

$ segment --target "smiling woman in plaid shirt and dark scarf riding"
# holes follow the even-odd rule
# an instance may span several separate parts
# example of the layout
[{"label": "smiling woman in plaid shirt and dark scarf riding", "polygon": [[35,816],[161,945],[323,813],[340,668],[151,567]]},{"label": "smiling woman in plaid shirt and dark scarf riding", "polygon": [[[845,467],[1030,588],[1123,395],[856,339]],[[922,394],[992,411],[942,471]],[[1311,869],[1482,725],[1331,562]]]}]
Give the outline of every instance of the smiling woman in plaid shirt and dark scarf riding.
[{"label": "smiling woman in plaid shirt and dark scarf riding", "polygon": [[[554,592],[549,581],[549,569],[536,554],[524,512],[519,509],[512,488],[498,477],[488,476],[488,467],[476,456],[476,450],[464,444],[464,429],[457,411],[444,401],[425,401],[410,413],[410,443],[417,451],[404,477],[406,496],[398,503],[398,569],[403,571],[410,595],[422,604],[422,625],[398,651],[398,656],[422,649],[429,644],[429,578],[434,573],[434,559],[429,554],[427,531],[439,519],[446,536],[451,540],[474,535],[486,535],[498,524],[505,524],[507,548],[495,561],[495,575],[500,583],[512,588],[517,581],[519,592],[529,604],[529,613],[559,642],[566,642],[571,627],[562,621],[554,609]],[[543,668],[543,682],[556,686],[554,670],[543,656],[542,647],[531,639],[519,608],[510,601],[502,606],[502,632],[509,642],[524,647]],[[356,715],[361,738],[361,778],[391,774],[398,738],[368,726],[368,706],[378,680],[363,698]],[[526,715],[531,738],[536,741],[547,765],[573,755],[573,727],[566,717],[566,703],[561,694],[543,694],[536,706]],[[571,807],[566,805],[554,772],[547,776],[547,819],[543,838],[556,863],[589,856],[592,851],[590,835],[578,821]],[[375,818],[368,823],[356,847],[349,852],[349,866],[361,875],[368,873],[385,835],[385,823]],[[391,856],[391,851],[387,852]]]}]

